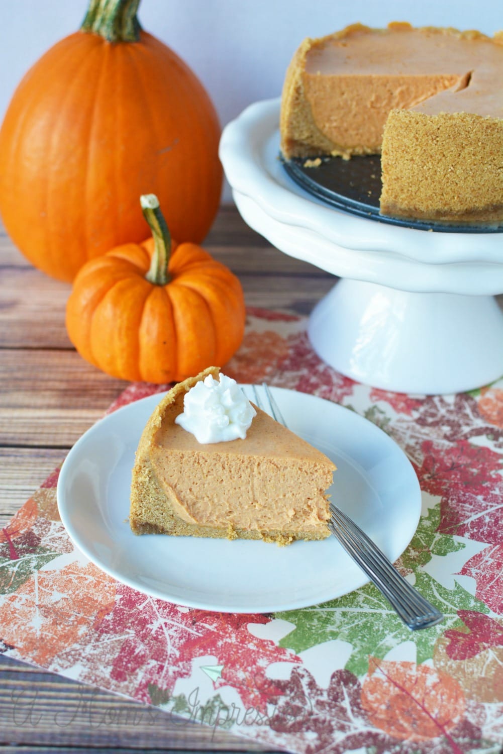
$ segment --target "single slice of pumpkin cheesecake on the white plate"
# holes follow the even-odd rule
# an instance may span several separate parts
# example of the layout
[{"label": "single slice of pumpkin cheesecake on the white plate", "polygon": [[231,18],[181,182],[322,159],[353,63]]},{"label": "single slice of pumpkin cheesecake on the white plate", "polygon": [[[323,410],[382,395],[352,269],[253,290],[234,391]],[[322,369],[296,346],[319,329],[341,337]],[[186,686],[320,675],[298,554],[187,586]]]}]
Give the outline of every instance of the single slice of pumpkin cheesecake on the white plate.
[{"label": "single slice of pumpkin cheesecake on the white plate", "polygon": [[[201,383],[217,389],[218,377],[219,369],[210,367],[180,382],[149,418],[133,467],[133,532],[278,544],[327,537],[330,513],[325,491],[332,484],[334,464],[252,407],[241,390],[255,414],[246,437],[243,433],[235,439],[207,442],[208,437],[198,436],[200,442],[187,431],[186,396],[196,386],[202,394]],[[229,380],[221,375],[220,383],[222,379]],[[196,404],[198,400],[195,397]],[[241,406],[237,410],[242,414]],[[199,424],[204,435],[204,423]]]}]

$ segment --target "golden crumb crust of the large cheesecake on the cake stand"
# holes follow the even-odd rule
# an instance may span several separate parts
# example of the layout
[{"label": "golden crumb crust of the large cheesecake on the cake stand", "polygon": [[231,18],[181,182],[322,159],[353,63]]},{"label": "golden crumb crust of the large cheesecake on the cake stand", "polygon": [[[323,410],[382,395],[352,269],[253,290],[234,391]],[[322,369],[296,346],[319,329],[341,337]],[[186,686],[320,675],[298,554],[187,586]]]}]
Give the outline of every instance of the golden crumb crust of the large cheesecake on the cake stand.
[{"label": "golden crumb crust of the large cheesecake on the cake stand", "polygon": [[[318,164],[323,155],[349,159],[354,155],[382,154],[380,213],[451,225],[483,224],[501,227],[503,184],[498,155],[503,153],[503,118],[469,109],[428,112],[431,94],[403,109],[392,107],[382,124],[380,143],[335,143],[318,127],[305,93],[304,73],[309,51],[330,40],[351,35],[400,31],[428,32],[460,40],[503,46],[503,32],[489,37],[475,30],[452,27],[416,27],[393,22],[384,29],[357,23],[322,38],[306,38],[294,54],[285,77],[281,99],[281,152],[288,161],[306,158]],[[469,67],[469,66],[468,66]],[[459,75],[457,84],[443,81],[439,90],[459,92],[470,85],[473,71]],[[477,73],[477,71],[476,71]],[[369,78],[371,78],[369,76]],[[437,84],[434,84],[437,86]],[[437,100],[445,103],[446,100]],[[313,160],[312,158],[317,158]]]}]

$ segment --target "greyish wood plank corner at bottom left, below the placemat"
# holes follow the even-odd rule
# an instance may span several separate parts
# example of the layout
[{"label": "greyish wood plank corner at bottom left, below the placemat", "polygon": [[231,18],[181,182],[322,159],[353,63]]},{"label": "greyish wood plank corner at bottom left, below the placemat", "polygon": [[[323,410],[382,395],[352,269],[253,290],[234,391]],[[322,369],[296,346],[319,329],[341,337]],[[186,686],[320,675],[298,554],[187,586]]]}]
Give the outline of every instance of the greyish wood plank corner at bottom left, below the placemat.
[{"label": "greyish wood plank corner at bottom left, below the placemat", "polygon": [[[2,683],[5,673],[10,676],[8,685]],[[11,743],[54,746],[57,731],[57,751],[60,752],[60,746],[81,745],[89,730],[93,733],[93,747],[160,750],[168,740],[173,749],[189,751],[272,750],[231,736],[218,726],[213,729],[189,722],[156,707],[3,658],[0,743],[6,743],[6,731],[9,731]]]}]

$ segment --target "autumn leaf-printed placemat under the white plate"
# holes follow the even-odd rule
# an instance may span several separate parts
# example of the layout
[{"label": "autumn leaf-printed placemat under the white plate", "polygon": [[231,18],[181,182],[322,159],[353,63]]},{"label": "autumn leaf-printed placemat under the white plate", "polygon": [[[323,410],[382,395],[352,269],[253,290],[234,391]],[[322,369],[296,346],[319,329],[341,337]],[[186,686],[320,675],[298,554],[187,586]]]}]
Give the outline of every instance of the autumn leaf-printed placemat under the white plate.
[{"label": "autumn leaf-printed placemat under the white plate", "polygon": [[[402,447],[422,490],[439,502],[425,498],[432,504],[397,567],[444,621],[410,632],[372,584],[275,616],[218,615],[146,597],[74,552],[57,510],[56,469],[0,532],[0,653],[189,718],[187,684],[201,677],[207,698],[199,722],[216,719],[302,754],[496,752],[503,744],[503,379],[455,396],[368,388],[322,363],[305,329],[302,317],[250,309],[243,346],[225,372],[336,401]],[[169,387],[129,385],[109,412]],[[442,569],[440,584],[434,575]],[[250,624],[277,638],[257,638]],[[275,633],[278,625],[284,633]],[[333,669],[321,659],[324,642]],[[236,700],[241,713],[256,713],[246,727],[228,716]]]}]

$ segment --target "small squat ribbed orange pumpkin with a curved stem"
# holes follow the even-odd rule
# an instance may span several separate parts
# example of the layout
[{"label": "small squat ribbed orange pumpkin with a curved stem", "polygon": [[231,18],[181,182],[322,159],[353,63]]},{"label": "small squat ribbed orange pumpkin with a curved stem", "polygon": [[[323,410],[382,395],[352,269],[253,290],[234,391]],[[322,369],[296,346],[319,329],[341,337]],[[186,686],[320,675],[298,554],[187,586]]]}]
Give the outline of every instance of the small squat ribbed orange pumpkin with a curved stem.
[{"label": "small squat ribbed orange pumpkin with a curved stem", "polygon": [[197,244],[171,253],[157,197],[140,203],[153,238],[81,268],[66,305],[70,340],[85,360],[127,380],[160,384],[222,366],[243,339],[238,278]]}]

